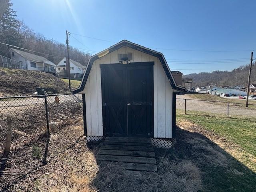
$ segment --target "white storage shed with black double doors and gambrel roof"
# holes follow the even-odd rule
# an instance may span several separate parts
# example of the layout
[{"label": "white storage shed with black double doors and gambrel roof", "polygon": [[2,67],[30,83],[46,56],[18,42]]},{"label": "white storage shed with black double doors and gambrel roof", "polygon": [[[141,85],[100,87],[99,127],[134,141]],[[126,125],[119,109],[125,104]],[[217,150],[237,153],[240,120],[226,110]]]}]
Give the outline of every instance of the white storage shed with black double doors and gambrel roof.
[{"label": "white storage shed with black double doors and gambrel roof", "polygon": [[84,134],[175,138],[176,85],[162,53],[127,40],[90,57],[83,93]]}]

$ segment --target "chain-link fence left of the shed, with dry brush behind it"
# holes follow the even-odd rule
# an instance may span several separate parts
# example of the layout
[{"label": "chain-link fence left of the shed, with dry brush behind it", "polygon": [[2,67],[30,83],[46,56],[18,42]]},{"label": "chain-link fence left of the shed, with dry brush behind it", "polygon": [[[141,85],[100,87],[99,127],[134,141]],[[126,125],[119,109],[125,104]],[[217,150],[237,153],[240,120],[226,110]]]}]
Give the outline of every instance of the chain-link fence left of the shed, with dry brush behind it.
[{"label": "chain-link fence left of the shed, with dry brush behind it", "polygon": [[7,119],[12,119],[11,151],[45,143],[56,132],[82,117],[82,94],[0,97],[0,152],[4,150]]}]

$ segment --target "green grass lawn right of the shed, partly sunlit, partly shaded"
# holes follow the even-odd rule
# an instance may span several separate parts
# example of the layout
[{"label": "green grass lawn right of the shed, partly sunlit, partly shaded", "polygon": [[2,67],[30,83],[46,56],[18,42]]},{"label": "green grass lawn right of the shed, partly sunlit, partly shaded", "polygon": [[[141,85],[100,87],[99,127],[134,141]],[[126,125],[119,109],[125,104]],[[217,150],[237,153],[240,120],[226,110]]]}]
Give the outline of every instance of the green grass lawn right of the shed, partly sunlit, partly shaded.
[{"label": "green grass lawn right of the shed, partly sunlit, partly shaded", "polygon": [[[221,156],[219,157],[217,153],[209,158],[209,152],[210,154],[212,152],[208,151],[209,145],[204,142],[202,142],[202,146],[197,146],[198,148],[196,147],[196,149],[194,147],[198,144],[191,142],[191,144],[187,144],[188,147],[185,150],[178,150],[179,153],[184,153],[183,156],[187,156],[186,158],[189,160],[194,160],[200,167],[203,182],[202,191],[251,192],[255,190],[256,122],[254,118],[241,119],[216,117],[209,114],[184,115],[179,113],[176,114],[176,118],[177,122],[189,121],[200,126],[202,128],[200,134],[202,135],[205,134],[203,130],[210,130],[214,135],[218,136],[218,139],[222,138],[220,141],[227,142],[224,148],[220,148],[213,142],[213,148],[211,148],[211,150],[221,152],[227,158],[226,160],[221,160]],[[196,133],[191,133],[190,138],[196,140],[196,136]],[[191,147],[190,145],[194,146]],[[217,160],[217,162],[220,160],[227,165],[214,165],[209,162],[211,160]]]}]

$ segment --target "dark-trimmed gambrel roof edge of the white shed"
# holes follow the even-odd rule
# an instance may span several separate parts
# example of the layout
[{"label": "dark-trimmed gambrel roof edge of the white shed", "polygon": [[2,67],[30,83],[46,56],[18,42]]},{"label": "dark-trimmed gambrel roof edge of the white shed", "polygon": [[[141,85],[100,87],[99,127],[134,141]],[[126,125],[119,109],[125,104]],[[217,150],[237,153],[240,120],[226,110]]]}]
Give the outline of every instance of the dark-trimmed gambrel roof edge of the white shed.
[{"label": "dark-trimmed gambrel roof edge of the white shed", "polygon": [[185,88],[176,85],[176,82],[175,82],[175,80],[174,80],[174,78],[172,76],[170,68],[169,68],[169,66],[168,66],[168,64],[167,64],[167,62],[166,62],[166,60],[164,58],[164,55],[161,52],[157,52],[155,50],[151,50],[149,48],[146,48],[144,46],[132,43],[132,42],[127,41],[127,40],[122,40],[119,43],[111,46],[110,48],[107,48],[106,50],[103,50],[102,52],[99,52],[98,54],[95,54],[94,56],[91,56],[89,58],[88,64],[87,64],[87,67],[86,67],[86,71],[84,72],[84,76],[82,78],[80,86],[79,86],[79,88],[73,90],[73,94],[76,94],[76,93],[81,92],[82,90],[84,90],[84,86],[85,86],[86,81],[88,79],[88,76],[90,74],[90,70],[92,68],[92,64],[93,64],[93,62],[95,60],[97,60],[98,58],[102,58],[106,54],[109,54],[109,53],[111,53],[111,52],[113,52],[115,50],[118,50],[119,48],[121,48],[123,46],[127,46],[127,47],[130,47],[132,49],[135,49],[135,50],[138,50],[138,51],[144,52],[146,54],[149,54],[149,55],[157,57],[160,60],[162,66],[164,68],[164,71],[166,73],[166,76],[167,76],[167,78],[168,78],[172,88],[175,89],[175,90],[178,90],[178,91],[182,91],[182,92],[184,92],[186,90]]}]

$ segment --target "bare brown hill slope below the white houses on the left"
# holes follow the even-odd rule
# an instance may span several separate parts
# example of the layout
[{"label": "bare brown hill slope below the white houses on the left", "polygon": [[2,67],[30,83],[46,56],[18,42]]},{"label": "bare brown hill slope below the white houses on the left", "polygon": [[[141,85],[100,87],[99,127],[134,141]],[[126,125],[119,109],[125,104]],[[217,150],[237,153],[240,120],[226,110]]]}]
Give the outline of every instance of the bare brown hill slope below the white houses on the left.
[{"label": "bare brown hill slope below the white houses on the left", "polygon": [[36,87],[48,88],[48,94],[69,93],[68,84],[52,74],[40,71],[0,68],[0,96],[31,95]]}]

